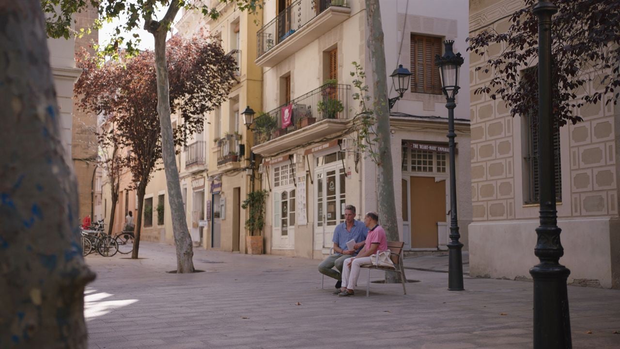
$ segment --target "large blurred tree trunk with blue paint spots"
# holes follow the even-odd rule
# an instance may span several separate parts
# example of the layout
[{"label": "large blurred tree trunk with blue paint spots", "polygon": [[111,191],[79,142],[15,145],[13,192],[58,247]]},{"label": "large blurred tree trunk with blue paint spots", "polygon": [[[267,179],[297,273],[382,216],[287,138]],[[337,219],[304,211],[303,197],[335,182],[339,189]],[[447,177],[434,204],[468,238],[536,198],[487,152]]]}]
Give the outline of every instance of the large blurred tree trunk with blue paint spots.
[{"label": "large blurred tree trunk with blue paint spots", "polygon": [[81,253],[40,2],[0,2],[0,23],[0,348],[86,348],[95,274]]}]

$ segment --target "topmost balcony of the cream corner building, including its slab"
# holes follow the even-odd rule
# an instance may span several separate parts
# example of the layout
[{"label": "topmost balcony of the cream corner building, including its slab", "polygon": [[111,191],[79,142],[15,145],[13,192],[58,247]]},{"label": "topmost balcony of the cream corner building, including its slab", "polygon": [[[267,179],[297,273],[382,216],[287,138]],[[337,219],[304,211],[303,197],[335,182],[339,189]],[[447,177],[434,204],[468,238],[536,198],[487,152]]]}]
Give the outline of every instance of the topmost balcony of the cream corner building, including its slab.
[{"label": "topmost balcony of the cream corner building, including its slab", "polygon": [[258,66],[273,66],[344,22],[350,0],[297,0],[257,32]]}]

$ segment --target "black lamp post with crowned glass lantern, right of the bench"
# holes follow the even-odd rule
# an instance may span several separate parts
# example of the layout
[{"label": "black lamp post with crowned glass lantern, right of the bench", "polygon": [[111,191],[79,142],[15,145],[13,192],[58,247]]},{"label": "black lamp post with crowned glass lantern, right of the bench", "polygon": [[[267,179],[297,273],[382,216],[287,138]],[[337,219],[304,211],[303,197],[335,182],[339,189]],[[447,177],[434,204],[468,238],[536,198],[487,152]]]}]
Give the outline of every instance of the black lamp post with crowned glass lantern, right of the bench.
[{"label": "black lamp post with crowned glass lantern, right of the bench", "polygon": [[448,243],[448,290],[463,291],[463,243],[459,242],[458,218],[456,216],[456,161],[454,160],[454,96],[459,92],[459,70],[463,65],[461,53],[452,51],[453,40],[446,40],[443,56],[435,56],[435,65],[439,67],[441,90],[446,96],[448,108],[448,145],[450,149],[450,242]]}]

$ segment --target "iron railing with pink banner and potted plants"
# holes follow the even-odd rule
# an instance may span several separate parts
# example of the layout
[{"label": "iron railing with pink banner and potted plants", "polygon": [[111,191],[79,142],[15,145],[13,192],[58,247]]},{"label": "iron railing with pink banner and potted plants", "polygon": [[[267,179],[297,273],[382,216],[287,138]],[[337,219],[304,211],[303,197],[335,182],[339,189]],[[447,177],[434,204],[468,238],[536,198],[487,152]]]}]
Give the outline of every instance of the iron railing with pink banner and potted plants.
[{"label": "iron railing with pink banner and potted plants", "polygon": [[[254,121],[254,144],[259,145],[324,119],[346,119],[350,90],[351,86],[346,84],[324,84],[258,116]],[[283,124],[283,115],[287,111],[291,113],[290,122]]]}]

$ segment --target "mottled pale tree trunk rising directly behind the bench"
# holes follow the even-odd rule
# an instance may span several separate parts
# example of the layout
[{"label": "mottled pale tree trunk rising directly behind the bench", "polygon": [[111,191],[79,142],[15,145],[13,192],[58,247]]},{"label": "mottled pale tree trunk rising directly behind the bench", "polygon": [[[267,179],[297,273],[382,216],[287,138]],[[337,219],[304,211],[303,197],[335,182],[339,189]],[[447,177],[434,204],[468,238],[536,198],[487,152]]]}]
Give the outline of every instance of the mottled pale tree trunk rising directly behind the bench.
[{"label": "mottled pale tree trunk rising directly behind the bench", "polygon": [[[379,219],[386,230],[387,240],[399,241],[398,220],[396,219],[396,202],[394,199],[394,168],[389,132],[389,104],[387,102],[386,57],[383,45],[383,27],[379,0],[366,1],[366,23],[368,24],[368,50],[373,82],[373,109],[377,120],[378,158],[377,194],[379,199]],[[400,282],[400,274],[386,271],[386,283]]]}]

